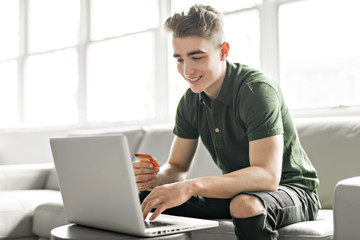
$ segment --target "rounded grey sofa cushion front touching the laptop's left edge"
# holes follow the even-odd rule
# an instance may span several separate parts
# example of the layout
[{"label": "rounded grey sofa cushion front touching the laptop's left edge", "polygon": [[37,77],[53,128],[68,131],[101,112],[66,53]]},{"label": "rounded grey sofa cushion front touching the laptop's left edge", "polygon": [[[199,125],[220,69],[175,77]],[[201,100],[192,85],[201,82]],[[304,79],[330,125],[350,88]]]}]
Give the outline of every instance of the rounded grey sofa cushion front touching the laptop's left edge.
[{"label": "rounded grey sofa cushion front touching the laptop's left edge", "polygon": [[50,238],[52,229],[68,224],[64,206],[61,203],[45,203],[34,211],[33,232],[43,238]]}]

